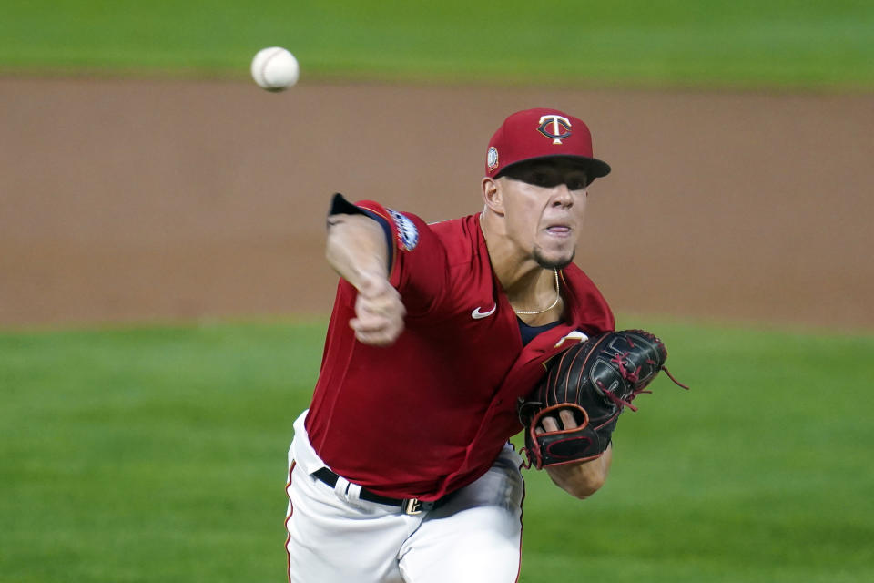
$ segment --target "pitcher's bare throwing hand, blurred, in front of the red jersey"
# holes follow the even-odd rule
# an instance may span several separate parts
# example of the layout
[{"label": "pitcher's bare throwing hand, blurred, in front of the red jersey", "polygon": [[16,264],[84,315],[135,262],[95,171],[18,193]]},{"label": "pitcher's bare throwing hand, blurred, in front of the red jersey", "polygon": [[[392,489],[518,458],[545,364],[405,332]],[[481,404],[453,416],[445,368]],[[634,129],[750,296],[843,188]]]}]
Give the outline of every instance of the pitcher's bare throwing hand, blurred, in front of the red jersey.
[{"label": "pitcher's bare throwing hand, blurred, in front of the red jersey", "polygon": [[355,338],[364,344],[387,346],[403,332],[407,313],[401,294],[381,275],[364,275],[355,300],[355,317],[349,325]]}]

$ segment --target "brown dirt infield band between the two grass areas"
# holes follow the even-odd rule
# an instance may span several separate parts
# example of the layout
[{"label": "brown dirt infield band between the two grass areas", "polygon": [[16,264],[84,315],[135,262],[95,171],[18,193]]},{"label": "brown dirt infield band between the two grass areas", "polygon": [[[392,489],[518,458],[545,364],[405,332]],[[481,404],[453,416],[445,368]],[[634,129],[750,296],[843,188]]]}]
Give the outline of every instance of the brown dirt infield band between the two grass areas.
[{"label": "brown dirt infield band between the two grass areas", "polygon": [[614,168],[577,262],[617,312],[874,329],[874,96],[15,78],[0,327],[327,312],[332,192],[477,212],[493,129],[538,106]]}]

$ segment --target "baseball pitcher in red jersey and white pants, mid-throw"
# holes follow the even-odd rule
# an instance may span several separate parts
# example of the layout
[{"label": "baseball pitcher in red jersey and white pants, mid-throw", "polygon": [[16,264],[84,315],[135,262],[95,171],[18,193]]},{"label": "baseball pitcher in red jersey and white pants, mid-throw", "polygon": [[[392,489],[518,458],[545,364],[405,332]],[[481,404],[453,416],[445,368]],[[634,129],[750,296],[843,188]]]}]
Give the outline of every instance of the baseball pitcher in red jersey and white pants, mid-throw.
[{"label": "baseball pitcher in red jersey and white pants, mid-throw", "polygon": [[[581,119],[529,109],[489,143],[479,214],[429,225],[334,196],[340,283],[289,451],[292,583],[516,581],[525,462],[508,439],[523,426],[555,484],[604,484],[616,416],[666,357],[613,332],[572,262],[587,187],[609,171]],[[595,342],[608,333],[622,342]]]}]

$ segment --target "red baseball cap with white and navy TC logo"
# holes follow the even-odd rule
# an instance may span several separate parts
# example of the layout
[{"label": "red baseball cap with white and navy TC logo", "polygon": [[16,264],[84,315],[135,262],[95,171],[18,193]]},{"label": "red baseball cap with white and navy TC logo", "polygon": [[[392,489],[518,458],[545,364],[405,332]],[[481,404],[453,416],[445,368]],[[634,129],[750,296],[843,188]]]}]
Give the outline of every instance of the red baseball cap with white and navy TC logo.
[{"label": "red baseball cap with white and navy TC logo", "polygon": [[538,107],[503,120],[489,140],[485,175],[498,178],[514,164],[554,157],[580,161],[589,182],[610,173],[610,166],[593,155],[592,134],[582,119]]}]

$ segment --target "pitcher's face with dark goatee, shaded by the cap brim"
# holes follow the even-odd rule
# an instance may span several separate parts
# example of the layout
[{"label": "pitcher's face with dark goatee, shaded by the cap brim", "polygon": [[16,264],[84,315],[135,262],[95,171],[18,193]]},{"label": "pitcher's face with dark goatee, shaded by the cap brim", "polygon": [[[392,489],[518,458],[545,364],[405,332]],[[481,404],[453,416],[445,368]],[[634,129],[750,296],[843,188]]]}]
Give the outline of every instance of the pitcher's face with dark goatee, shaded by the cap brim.
[{"label": "pitcher's face with dark goatee, shaded by the cap brim", "polygon": [[574,260],[588,180],[571,160],[534,160],[500,179],[508,236],[546,269]]}]

